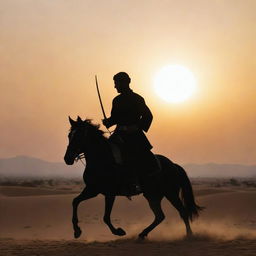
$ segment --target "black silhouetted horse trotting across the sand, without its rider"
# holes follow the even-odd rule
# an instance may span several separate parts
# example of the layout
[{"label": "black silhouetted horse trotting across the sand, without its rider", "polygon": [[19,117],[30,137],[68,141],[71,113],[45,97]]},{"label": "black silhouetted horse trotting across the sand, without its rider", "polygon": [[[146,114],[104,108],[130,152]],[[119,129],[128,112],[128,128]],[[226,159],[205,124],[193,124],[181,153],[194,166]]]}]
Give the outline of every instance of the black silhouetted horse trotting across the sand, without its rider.
[{"label": "black silhouetted horse trotting across the sand, without its rider", "polygon": [[[68,135],[69,144],[64,157],[65,162],[72,165],[74,160],[82,153],[84,153],[86,159],[86,169],[83,175],[86,187],[73,200],[74,236],[78,238],[82,233],[78,226],[78,205],[84,200],[96,197],[98,194],[105,196],[104,222],[114,235],[123,236],[126,234],[125,231],[122,228],[115,228],[110,219],[115,196],[120,195],[120,192],[118,192],[118,185],[120,186],[120,184],[116,179],[120,171],[112,155],[109,141],[103,136],[104,132],[99,130],[99,126],[92,124],[90,120],[82,121],[78,117],[77,121],[71,118],[69,118],[69,121],[71,130]],[[165,218],[161,209],[163,197],[166,197],[178,210],[186,225],[187,235],[192,235],[189,220],[192,221],[193,217],[197,217],[202,208],[195,203],[189,178],[181,166],[164,156],[156,156],[161,164],[161,172],[153,177],[147,177],[145,186],[142,187],[143,196],[148,200],[155,219],[139,234],[139,238],[145,238]],[[180,190],[181,199],[179,198]]]}]

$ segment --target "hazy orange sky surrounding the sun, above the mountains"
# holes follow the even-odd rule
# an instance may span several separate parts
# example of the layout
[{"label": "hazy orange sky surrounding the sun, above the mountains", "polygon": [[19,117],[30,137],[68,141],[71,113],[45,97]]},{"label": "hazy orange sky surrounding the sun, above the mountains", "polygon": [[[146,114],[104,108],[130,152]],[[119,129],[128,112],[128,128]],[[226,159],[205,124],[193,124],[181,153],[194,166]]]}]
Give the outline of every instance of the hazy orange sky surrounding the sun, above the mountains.
[{"label": "hazy orange sky surrounding the sun, above the mountains", "polygon": [[[256,164],[256,1],[0,0],[0,157],[62,161],[67,116],[102,118],[126,71],[154,114],[154,152],[178,163]],[[158,98],[154,74],[188,67],[197,94]]]}]

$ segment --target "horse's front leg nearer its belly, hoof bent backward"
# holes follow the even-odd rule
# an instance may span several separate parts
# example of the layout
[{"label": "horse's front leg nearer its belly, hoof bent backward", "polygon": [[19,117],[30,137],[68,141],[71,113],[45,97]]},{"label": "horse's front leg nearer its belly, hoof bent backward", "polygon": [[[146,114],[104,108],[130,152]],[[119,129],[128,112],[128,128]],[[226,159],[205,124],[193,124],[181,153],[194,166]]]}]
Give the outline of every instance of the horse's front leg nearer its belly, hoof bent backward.
[{"label": "horse's front leg nearer its belly, hoof bent backward", "polygon": [[110,219],[111,211],[113,208],[113,204],[115,201],[115,196],[105,196],[105,214],[104,214],[104,222],[108,225],[109,229],[114,235],[124,236],[126,232],[122,228],[115,228]]}]

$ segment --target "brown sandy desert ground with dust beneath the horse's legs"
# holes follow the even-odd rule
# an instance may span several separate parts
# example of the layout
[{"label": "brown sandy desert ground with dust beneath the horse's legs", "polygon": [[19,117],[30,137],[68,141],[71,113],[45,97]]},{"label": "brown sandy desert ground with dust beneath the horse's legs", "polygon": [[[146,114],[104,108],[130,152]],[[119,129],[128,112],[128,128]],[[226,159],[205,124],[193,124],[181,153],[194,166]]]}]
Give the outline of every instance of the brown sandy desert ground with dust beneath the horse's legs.
[{"label": "brown sandy desert ground with dust beneath the horse's legs", "polygon": [[76,194],[70,193],[0,187],[0,255],[256,255],[255,189],[196,186],[197,201],[207,208],[192,223],[190,239],[177,211],[163,200],[166,219],[144,242],[136,236],[153,215],[142,196],[115,202],[113,224],[127,232],[121,239],[102,221],[102,196],[82,203],[83,233],[74,240],[71,202]]}]

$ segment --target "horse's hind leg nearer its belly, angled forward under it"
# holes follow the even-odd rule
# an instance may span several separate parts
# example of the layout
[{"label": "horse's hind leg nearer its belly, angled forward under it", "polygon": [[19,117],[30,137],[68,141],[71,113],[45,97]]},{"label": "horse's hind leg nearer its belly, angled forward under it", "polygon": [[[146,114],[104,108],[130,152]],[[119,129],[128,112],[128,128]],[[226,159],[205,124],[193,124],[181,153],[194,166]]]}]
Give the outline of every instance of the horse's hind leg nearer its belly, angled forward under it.
[{"label": "horse's hind leg nearer its belly, angled forward under it", "polygon": [[158,226],[164,220],[165,216],[164,216],[164,213],[161,208],[162,198],[163,198],[162,196],[159,196],[157,198],[156,197],[148,197],[148,196],[146,197],[146,199],[148,200],[150,209],[153,211],[153,213],[155,215],[155,219],[147,228],[145,228],[139,234],[140,239],[144,239],[148,235],[149,232],[151,232],[156,226]]}]

